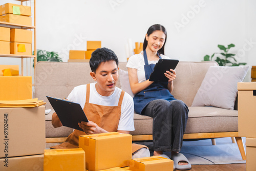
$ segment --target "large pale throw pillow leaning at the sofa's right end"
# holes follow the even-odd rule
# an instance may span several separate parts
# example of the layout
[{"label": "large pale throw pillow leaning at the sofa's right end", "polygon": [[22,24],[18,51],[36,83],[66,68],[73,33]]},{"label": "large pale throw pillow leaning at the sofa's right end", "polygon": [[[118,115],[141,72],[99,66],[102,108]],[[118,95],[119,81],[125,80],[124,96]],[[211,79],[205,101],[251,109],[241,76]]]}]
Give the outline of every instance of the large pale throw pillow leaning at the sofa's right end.
[{"label": "large pale throw pillow leaning at the sofa's right end", "polygon": [[209,67],[191,106],[215,106],[234,109],[238,82],[242,82],[249,66]]}]

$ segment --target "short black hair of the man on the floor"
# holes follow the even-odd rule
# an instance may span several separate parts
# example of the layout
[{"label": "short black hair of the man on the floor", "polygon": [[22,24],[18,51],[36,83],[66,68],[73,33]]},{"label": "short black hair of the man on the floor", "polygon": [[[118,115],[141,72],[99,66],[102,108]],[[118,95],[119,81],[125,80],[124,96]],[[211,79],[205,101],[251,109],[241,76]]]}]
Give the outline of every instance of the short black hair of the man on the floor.
[{"label": "short black hair of the man on the floor", "polygon": [[108,48],[96,49],[95,51],[93,51],[90,59],[90,67],[92,72],[96,73],[96,70],[99,67],[101,62],[106,62],[111,60],[116,61],[116,65],[118,66],[118,58],[112,50]]}]

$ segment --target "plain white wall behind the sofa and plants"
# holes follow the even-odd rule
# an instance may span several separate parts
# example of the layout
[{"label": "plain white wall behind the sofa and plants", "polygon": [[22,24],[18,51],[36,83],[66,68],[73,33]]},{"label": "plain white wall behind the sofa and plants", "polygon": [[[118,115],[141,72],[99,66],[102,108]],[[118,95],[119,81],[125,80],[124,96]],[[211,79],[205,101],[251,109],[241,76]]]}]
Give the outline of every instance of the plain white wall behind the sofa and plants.
[{"label": "plain white wall behind the sofa and plants", "polygon": [[[102,47],[126,61],[127,39],[143,42],[148,27],[161,24],[168,34],[167,56],[201,61],[219,52],[218,44],[232,43],[236,47],[230,52],[238,54],[239,62],[256,65],[253,0],[44,0],[36,7],[37,49],[56,51],[63,61],[69,50],[86,50],[87,40],[101,40]],[[250,81],[250,71],[245,81]]]}]

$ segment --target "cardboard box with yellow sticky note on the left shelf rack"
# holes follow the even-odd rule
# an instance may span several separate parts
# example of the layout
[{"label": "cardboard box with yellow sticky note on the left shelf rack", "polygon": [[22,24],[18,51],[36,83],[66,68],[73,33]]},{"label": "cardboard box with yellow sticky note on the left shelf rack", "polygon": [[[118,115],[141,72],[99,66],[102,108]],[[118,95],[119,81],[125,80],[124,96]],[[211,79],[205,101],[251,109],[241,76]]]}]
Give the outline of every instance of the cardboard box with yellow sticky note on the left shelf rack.
[{"label": "cardboard box with yellow sticky note on the left shelf rack", "polygon": [[32,44],[10,42],[10,53],[15,55],[32,55]]}]

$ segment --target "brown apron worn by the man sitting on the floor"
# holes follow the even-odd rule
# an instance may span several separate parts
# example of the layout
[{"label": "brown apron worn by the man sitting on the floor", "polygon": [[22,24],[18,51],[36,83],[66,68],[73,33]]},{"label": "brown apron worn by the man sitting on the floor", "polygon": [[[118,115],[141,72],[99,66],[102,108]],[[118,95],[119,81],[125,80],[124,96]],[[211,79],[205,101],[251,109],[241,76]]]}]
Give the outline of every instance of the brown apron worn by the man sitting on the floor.
[{"label": "brown apron worn by the man sitting on the floor", "polygon": [[[122,90],[121,92],[117,106],[105,106],[89,103],[90,84],[87,84],[86,92],[86,103],[84,104],[83,111],[86,114],[88,120],[93,121],[99,127],[108,132],[117,132],[119,119],[121,116],[121,105],[124,91]],[[59,145],[51,146],[51,148],[78,148],[78,138],[80,135],[86,135],[86,133],[84,133],[83,131],[74,130],[74,132],[69,135],[65,142]],[[136,152],[142,147],[146,147],[145,145],[139,144],[132,145],[132,153]]]}]

